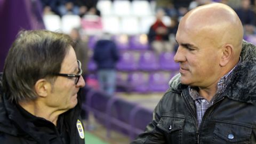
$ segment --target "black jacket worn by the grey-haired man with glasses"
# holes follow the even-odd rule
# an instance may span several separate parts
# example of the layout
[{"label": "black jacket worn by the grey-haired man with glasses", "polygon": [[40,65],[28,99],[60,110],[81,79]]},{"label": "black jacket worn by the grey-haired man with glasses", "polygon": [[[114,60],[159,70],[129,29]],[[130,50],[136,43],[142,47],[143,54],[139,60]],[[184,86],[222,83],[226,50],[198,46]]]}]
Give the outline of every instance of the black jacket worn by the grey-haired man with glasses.
[{"label": "black jacket worn by the grey-haired man with glasses", "polygon": [[7,100],[7,94],[2,89],[2,74],[0,74],[0,143],[1,144],[84,144],[79,136],[77,121],[81,103],[63,113],[58,118],[58,124],[44,118],[29,114],[16,103]]}]

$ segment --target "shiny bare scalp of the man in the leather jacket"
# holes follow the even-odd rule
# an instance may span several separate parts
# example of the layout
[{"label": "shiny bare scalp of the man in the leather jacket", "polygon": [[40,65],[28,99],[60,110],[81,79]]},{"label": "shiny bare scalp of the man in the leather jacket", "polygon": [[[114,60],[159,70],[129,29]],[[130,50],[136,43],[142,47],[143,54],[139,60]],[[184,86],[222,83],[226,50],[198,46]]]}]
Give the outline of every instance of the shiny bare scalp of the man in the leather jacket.
[{"label": "shiny bare scalp of the man in the leather jacket", "polygon": [[242,22],[236,12],[225,4],[198,6],[181,19],[179,27],[204,35],[212,44],[217,44],[215,46],[231,44],[236,49],[242,47]]}]

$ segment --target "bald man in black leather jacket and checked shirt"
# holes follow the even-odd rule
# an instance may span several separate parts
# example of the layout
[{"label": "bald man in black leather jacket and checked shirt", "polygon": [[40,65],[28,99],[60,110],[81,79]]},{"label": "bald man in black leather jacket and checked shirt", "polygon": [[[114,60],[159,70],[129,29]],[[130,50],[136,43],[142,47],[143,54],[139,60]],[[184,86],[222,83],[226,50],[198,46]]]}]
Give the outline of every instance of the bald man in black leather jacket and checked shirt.
[{"label": "bald man in black leather jacket and checked shirt", "polygon": [[199,6],[180,21],[179,74],[135,143],[256,143],[256,47],[229,6]]}]

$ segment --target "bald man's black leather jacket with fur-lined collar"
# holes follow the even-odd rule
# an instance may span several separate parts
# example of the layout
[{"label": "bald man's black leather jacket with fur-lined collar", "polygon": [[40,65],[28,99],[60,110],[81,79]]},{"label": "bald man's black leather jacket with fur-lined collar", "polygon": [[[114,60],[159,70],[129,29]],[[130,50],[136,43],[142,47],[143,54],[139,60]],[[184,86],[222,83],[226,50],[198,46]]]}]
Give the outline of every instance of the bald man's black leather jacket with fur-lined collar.
[{"label": "bald man's black leather jacket with fur-lined collar", "polygon": [[244,42],[241,58],[199,129],[195,103],[178,74],[156,106],[153,121],[132,144],[256,143],[256,47]]}]

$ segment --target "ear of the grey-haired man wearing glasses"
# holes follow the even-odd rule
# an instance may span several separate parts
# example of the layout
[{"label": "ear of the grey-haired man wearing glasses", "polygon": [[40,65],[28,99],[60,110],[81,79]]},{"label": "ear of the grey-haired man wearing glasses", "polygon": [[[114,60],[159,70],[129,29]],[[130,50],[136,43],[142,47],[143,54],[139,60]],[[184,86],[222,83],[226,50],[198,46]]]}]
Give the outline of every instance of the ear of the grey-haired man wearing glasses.
[{"label": "ear of the grey-haired man wearing glasses", "polygon": [[51,83],[46,79],[39,79],[35,84],[35,91],[39,97],[47,97],[51,92]]}]

